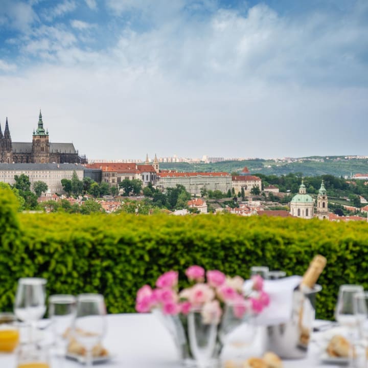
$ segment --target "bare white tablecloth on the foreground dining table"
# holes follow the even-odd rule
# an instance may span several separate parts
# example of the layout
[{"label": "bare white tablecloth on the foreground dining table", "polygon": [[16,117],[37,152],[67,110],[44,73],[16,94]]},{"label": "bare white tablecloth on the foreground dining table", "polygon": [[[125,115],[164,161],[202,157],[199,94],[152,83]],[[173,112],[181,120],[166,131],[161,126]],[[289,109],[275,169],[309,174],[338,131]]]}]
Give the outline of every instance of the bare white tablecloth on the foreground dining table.
[{"label": "bare white tablecloth on the foreground dining table", "polygon": [[[104,338],[104,346],[113,358],[99,365],[104,368],[182,368],[179,364],[174,343],[169,332],[152,314],[111,314],[106,316],[108,332]],[[253,349],[259,350],[262,331],[257,333]],[[285,368],[313,368],[337,365],[323,365],[319,361],[320,347],[310,344],[308,358],[302,360],[284,360]],[[81,364],[66,360],[60,365],[59,359],[52,360],[52,368],[76,368]],[[1,368],[15,367],[14,354],[0,355]]]}]

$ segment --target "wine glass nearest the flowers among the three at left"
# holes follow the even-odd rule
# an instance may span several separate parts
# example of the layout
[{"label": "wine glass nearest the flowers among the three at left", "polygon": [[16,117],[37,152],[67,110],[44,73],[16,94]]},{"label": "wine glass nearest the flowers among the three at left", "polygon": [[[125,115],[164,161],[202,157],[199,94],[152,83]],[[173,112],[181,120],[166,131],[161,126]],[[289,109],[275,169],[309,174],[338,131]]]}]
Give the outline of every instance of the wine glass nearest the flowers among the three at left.
[{"label": "wine glass nearest the flowers among the three at left", "polygon": [[77,296],[77,313],[73,323],[73,336],[86,350],[86,366],[92,366],[92,350],[106,332],[106,307],[101,294]]}]

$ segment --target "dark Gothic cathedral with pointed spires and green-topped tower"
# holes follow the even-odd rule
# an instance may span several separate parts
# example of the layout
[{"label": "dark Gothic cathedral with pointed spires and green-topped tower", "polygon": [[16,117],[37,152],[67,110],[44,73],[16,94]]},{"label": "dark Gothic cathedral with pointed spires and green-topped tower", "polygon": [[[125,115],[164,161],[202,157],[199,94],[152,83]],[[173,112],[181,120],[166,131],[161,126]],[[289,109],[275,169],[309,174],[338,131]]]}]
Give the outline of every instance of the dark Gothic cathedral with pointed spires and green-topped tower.
[{"label": "dark Gothic cathedral with pointed spires and green-topped tower", "polygon": [[44,130],[40,110],[38,127],[33,130],[32,143],[12,142],[8,125],[4,134],[0,126],[0,163],[8,164],[86,164],[85,156],[79,156],[73,143],[50,143],[49,132]]}]

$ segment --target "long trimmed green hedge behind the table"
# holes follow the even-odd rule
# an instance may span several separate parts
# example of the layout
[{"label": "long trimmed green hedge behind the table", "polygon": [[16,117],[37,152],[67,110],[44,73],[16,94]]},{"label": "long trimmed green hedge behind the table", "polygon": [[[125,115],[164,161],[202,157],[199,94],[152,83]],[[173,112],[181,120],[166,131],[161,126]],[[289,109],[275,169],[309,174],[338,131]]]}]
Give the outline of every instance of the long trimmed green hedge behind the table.
[{"label": "long trimmed green hedge behind the table", "polygon": [[138,288],[164,271],[198,264],[244,278],[254,265],[303,274],[328,259],[317,317],[333,318],[338,286],[368,286],[368,224],[235,215],[16,214],[0,190],[0,308],[12,309],[17,279],[48,279],[48,292],[100,292],[110,313],[133,312]]}]

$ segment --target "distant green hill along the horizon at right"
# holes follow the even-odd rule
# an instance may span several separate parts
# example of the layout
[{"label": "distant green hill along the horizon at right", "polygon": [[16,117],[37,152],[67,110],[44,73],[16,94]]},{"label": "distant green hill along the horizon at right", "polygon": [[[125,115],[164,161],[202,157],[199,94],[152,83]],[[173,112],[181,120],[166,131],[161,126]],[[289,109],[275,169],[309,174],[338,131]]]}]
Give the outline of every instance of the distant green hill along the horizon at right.
[{"label": "distant green hill along the horizon at right", "polygon": [[187,163],[160,163],[160,169],[177,171],[225,171],[228,173],[240,172],[246,166],[251,174],[286,175],[300,172],[304,176],[334,175],[350,176],[351,173],[368,173],[367,159],[347,159],[344,156],[303,157],[291,158],[289,162],[279,160],[265,160],[260,158],[243,161],[223,161],[214,164],[187,164]]}]

